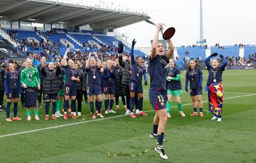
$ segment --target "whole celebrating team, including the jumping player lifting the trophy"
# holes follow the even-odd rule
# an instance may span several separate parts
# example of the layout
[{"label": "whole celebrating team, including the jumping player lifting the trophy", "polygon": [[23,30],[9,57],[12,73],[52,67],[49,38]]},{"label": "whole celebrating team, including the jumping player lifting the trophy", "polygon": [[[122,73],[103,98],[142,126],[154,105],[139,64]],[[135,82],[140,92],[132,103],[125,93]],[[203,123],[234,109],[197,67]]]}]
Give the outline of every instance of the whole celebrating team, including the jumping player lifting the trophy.
[{"label": "whole celebrating team, including the jumping player lifting the trophy", "polygon": [[[45,119],[48,120],[63,116],[65,120],[70,116],[75,119],[81,116],[82,96],[87,100],[89,92],[89,104],[93,119],[102,115],[102,94],[105,96],[105,114],[116,113],[113,110],[114,98],[116,110],[119,109],[119,96],[122,97],[125,114],[131,118],[147,116],[143,110],[143,86],[147,85],[146,72],[149,72],[150,88],[149,102],[155,110],[153,131],[150,135],[157,139],[155,150],[163,159],[168,159],[163,149],[164,130],[167,119],[171,118],[172,100],[176,99],[179,113],[186,116],[181,103],[181,72],[171,59],[174,53],[174,45],[171,39],[166,40],[169,49],[164,52],[164,45],[159,43],[159,31],[162,24],[156,28],[156,34],[152,43],[149,66],[146,71],[142,57],[134,56],[134,45],[129,56],[122,54],[124,45],[119,43],[119,55],[116,58],[100,60],[97,53],[90,53],[87,60],[73,60],[68,57],[68,48],[60,62],[46,64],[46,57],[42,57],[42,63],[38,67],[32,67],[31,59],[23,62],[21,69],[16,69],[14,62],[9,61],[4,74],[4,89],[6,94],[6,121],[21,120],[18,117],[18,98],[21,94],[21,103],[26,107],[26,119],[31,120],[31,110],[34,111],[35,120],[39,120],[38,101],[41,103],[41,94],[45,100]],[[227,61],[225,57],[213,53],[206,58],[208,80],[209,110],[213,113],[212,120],[221,121],[223,108],[222,73]],[[222,63],[221,63],[222,61]],[[190,116],[203,117],[202,83],[203,73],[195,60],[190,60],[186,71],[185,90],[190,92],[193,101],[193,113]],[[188,88],[189,83],[189,88]],[[88,89],[87,89],[88,88]],[[38,100],[38,95],[39,99]],[[14,117],[10,118],[11,103],[14,105]],[[135,112],[134,113],[134,106]],[[52,108],[52,116],[49,110]],[[137,111],[136,111],[137,110]],[[60,113],[63,111],[63,115]],[[68,114],[69,113],[69,114]],[[136,116],[137,114],[137,116]]]}]

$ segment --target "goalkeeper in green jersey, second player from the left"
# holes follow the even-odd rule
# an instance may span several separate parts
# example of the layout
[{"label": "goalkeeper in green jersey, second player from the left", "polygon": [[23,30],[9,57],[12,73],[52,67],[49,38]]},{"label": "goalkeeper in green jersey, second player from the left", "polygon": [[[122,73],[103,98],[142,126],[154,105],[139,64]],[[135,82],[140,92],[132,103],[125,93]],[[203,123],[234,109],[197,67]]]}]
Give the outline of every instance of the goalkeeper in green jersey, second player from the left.
[{"label": "goalkeeper in green jersey, second player from the left", "polygon": [[26,68],[21,71],[21,84],[26,91],[25,106],[28,116],[27,120],[31,120],[31,107],[34,108],[35,119],[39,120],[39,111],[38,108],[36,108],[36,101],[38,89],[41,89],[40,83],[38,69],[32,67],[32,61],[28,58],[26,60]]}]

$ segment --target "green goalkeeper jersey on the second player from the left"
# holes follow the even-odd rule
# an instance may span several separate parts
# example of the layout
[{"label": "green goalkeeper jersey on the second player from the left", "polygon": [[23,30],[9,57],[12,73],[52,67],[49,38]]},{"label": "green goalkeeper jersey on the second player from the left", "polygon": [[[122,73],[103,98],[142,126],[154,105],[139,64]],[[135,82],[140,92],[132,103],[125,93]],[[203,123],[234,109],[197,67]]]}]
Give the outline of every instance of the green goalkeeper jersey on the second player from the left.
[{"label": "green goalkeeper jersey on the second player from the left", "polygon": [[40,82],[40,75],[37,68],[27,67],[21,71],[21,84],[26,84],[28,87],[37,88]]}]

